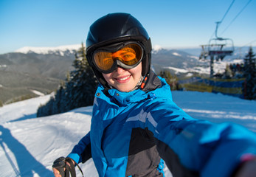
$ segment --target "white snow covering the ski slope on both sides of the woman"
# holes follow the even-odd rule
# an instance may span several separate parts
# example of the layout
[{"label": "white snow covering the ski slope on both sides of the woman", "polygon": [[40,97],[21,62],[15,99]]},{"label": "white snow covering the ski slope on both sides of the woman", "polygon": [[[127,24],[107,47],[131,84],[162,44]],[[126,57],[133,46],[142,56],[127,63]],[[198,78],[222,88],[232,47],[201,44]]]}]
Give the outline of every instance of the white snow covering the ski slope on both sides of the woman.
[{"label": "white snow covering the ski slope on both sides of the woman", "polygon": [[[49,95],[0,108],[1,176],[53,176],[52,162],[66,156],[90,129],[92,107],[49,117],[36,117]],[[235,122],[256,132],[256,102],[223,94],[173,91],[173,100],[187,114],[212,122]],[[92,160],[80,164],[85,176],[97,176]],[[165,167],[166,176],[171,174]],[[77,176],[81,176],[77,170]]]}]

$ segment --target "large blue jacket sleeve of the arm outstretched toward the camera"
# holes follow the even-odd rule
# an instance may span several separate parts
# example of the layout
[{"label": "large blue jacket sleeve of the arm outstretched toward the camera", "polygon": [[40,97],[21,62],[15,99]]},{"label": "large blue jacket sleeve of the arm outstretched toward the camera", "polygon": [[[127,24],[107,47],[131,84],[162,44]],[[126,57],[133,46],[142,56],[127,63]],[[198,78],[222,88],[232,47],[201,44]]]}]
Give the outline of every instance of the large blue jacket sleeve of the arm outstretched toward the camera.
[{"label": "large blue jacket sleeve of the arm outstretched toward the camera", "polygon": [[159,155],[173,176],[231,176],[243,156],[256,155],[252,131],[193,119],[173,102],[152,105],[144,125],[153,132]]}]

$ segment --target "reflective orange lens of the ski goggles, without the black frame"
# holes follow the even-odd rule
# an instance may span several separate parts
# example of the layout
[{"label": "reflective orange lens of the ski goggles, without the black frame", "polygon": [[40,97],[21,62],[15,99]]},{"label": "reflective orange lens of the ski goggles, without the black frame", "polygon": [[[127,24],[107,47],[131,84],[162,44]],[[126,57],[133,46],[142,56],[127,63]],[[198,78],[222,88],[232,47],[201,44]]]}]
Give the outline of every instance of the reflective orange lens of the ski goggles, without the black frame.
[{"label": "reflective orange lens of the ski goggles, without the black frame", "polygon": [[102,71],[112,68],[115,60],[120,60],[126,66],[134,66],[142,59],[142,47],[138,44],[128,44],[116,52],[100,50],[94,53],[94,63]]}]

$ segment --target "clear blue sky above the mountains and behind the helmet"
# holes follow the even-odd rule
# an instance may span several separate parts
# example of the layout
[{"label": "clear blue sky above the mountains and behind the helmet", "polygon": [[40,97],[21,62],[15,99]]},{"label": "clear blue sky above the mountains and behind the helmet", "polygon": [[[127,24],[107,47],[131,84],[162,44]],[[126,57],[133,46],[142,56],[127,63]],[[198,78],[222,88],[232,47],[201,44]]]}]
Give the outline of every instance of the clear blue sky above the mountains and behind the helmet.
[{"label": "clear blue sky above the mountains and behind the helmet", "polygon": [[117,12],[139,19],[153,46],[207,44],[221,20],[218,37],[256,46],[256,0],[0,0],[0,54],[23,46],[80,44],[97,18]]}]

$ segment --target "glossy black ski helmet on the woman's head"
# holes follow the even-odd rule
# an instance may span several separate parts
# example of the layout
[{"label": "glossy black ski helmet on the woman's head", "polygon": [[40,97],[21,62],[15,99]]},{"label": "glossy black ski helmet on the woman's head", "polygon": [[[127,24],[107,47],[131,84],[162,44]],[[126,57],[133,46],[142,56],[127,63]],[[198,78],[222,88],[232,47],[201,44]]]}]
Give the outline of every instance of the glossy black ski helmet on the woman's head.
[{"label": "glossy black ski helmet on the woman's head", "polygon": [[142,76],[145,76],[151,71],[151,38],[134,16],[128,13],[110,13],[99,18],[89,28],[86,39],[86,58],[97,80],[107,88],[108,84],[103,74],[97,70],[92,62],[92,54],[99,47],[125,41],[136,41],[142,45],[144,49]]}]

